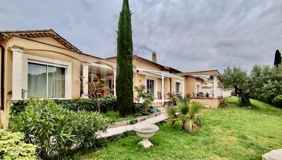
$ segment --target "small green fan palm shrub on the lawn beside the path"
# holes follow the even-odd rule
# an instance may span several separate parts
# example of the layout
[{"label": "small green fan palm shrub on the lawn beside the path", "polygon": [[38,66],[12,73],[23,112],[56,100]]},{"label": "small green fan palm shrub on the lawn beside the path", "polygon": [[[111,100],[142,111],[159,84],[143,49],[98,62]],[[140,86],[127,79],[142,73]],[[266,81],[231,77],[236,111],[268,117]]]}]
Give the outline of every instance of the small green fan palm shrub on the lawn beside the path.
[{"label": "small green fan palm shrub on the lawn beside the path", "polygon": [[[178,119],[182,121],[181,128],[188,133],[196,133],[202,126],[202,121],[199,119],[201,105],[196,102],[190,103],[189,100],[176,100],[176,107],[168,108],[168,116],[171,124],[174,124]],[[179,112],[179,114],[176,114]]]}]

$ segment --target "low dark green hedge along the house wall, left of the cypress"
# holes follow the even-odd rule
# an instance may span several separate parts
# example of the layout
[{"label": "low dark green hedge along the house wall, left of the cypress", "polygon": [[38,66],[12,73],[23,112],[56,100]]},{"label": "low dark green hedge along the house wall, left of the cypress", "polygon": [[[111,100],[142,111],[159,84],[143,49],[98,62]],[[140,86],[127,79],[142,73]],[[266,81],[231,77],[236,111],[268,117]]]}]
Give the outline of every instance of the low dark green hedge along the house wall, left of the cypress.
[{"label": "low dark green hedge along the house wall, left of the cypress", "polygon": [[[106,97],[98,99],[71,99],[71,100],[62,100],[54,99],[57,105],[61,105],[65,109],[69,109],[75,112],[80,110],[85,110],[87,112],[95,112],[97,110],[98,102],[100,104],[100,109],[102,113],[109,111],[116,111],[116,97]],[[22,112],[23,109],[27,106],[27,100],[20,100],[14,102],[10,109],[10,114],[13,116],[18,115]]]}]

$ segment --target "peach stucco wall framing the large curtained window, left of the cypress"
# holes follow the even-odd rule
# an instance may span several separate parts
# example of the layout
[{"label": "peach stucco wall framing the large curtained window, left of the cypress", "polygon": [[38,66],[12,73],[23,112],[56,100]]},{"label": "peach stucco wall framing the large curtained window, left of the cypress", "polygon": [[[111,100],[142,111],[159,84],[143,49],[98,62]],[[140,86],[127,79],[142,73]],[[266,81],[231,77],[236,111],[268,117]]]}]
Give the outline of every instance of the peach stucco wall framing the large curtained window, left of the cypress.
[{"label": "peach stucco wall framing the large curtained window, left of the cypress", "polygon": [[[25,48],[23,54],[35,55],[41,58],[49,58],[56,61],[69,62],[71,63],[71,98],[80,98],[80,63],[81,62],[97,62],[107,65],[112,69],[116,69],[116,63],[94,58],[90,55],[84,55],[70,51],[64,48],[59,42],[54,41],[49,37],[35,38],[35,40],[44,41],[40,43],[38,41],[32,41],[29,39],[13,36],[1,45],[5,48],[5,77],[4,77],[4,102],[6,102],[4,112],[1,111],[0,119],[2,124],[7,124],[8,119],[8,107],[11,100],[11,94],[8,94],[12,90],[12,79],[13,79],[13,53],[9,49],[12,46],[18,46]],[[57,44],[56,44],[57,43]],[[51,45],[48,45],[51,44]],[[57,47],[58,46],[58,47]]]}]

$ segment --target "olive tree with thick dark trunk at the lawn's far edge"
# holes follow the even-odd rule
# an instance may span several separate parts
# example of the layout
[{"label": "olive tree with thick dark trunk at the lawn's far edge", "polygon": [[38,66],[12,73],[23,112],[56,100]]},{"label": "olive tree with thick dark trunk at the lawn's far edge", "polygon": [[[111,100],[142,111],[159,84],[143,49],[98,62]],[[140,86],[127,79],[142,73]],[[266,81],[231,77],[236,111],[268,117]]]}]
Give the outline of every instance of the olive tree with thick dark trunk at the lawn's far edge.
[{"label": "olive tree with thick dark trunk at the lawn's far edge", "polygon": [[250,81],[250,76],[247,72],[240,68],[227,67],[224,70],[224,74],[220,77],[221,87],[227,90],[234,90],[239,96],[240,105],[245,107],[250,107],[250,93],[252,88],[252,83]]}]

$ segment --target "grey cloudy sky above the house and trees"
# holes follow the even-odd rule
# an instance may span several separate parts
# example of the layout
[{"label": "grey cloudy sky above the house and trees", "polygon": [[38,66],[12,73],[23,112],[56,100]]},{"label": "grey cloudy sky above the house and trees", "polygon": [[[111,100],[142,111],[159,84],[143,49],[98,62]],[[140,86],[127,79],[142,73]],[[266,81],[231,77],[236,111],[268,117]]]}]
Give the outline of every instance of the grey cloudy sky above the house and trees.
[{"label": "grey cloudy sky above the house and trees", "polygon": [[[84,53],[116,55],[122,0],[10,0],[0,30],[54,29]],[[130,0],[134,53],[183,72],[272,65],[282,51],[281,0]]]}]

